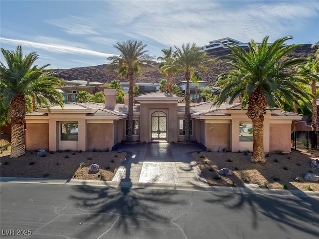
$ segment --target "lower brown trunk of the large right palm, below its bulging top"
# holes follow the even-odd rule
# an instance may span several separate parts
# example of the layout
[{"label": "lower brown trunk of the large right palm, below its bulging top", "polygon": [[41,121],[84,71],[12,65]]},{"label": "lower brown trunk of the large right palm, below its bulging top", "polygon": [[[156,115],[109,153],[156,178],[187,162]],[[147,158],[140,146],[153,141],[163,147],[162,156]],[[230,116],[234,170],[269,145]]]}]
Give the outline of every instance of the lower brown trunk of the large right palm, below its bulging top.
[{"label": "lower brown trunk of the large right palm, below its bulging top", "polygon": [[252,163],[266,164],[264,154],[264,117],[251,119],[253,122],[253,154]]}]

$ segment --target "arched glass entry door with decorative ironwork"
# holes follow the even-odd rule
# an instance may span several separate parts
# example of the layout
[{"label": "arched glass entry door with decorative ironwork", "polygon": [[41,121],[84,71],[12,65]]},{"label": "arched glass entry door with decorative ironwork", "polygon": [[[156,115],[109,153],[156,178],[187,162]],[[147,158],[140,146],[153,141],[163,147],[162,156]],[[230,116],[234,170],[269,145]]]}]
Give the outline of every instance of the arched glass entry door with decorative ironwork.
[{"label": "arched glass entry door with decorative ironwork", "polygon": [[152,140],[166,140],[166,114],[156,111],[152,114]]}]

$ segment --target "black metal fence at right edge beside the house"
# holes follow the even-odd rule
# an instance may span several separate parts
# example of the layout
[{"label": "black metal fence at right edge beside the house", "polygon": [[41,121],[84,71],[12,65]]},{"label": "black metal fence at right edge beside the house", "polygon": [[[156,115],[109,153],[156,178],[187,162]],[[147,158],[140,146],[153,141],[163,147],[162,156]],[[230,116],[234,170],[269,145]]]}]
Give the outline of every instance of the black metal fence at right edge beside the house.
[{"label": "black metal fence at right edge beside the house", "polygon": [[318,148],[319,131],[292,131],[291,148],[295,150],[310,150]]}]

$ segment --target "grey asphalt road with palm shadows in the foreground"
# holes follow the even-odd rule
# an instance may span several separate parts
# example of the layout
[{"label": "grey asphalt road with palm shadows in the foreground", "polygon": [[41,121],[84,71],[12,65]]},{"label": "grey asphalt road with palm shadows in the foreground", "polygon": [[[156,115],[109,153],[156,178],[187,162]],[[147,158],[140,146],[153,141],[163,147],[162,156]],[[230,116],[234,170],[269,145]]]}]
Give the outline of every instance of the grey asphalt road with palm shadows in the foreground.
[{"label": "grey asphalt road with palm shadows in the foreground", "polygon": [[0,238],[319,238],[319,198],[306,195],[86,184],[1,183],[0,187]]}]

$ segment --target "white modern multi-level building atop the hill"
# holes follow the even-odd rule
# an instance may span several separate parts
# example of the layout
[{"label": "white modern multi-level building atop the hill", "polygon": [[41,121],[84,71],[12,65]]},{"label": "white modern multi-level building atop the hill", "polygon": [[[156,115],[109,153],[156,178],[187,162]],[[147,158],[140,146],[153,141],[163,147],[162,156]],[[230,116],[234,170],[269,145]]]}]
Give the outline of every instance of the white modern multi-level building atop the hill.
[{"label": "white modern multi-level building atop the hill", "polygon": [[[232,44],[236,44],[241,47],[248,47],[248,42],[241,42],[230,37],[225,37],[218,40],[209,41],[209,44],[200,47],[200,51],[207,51],[210,54],[228,49],[228,47]],[[268,43],[268,45],[270,44],[271,43]],[[257,43],[257,45],[260,45],[260,43]]]}]

